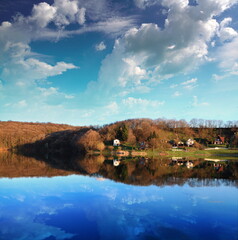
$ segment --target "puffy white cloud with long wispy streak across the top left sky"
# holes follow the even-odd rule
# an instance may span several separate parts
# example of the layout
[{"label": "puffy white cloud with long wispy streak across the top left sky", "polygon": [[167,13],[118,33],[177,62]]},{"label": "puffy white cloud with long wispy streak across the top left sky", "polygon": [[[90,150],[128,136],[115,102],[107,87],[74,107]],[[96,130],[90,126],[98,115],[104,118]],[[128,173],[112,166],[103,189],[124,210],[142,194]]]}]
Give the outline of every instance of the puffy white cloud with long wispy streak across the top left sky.
[{"label": "puffy white cloud with long wispy streak across the top left sky", "polygon": [[[88,24],[86,13],[87,17],[93,19]],[[93,31],[118,36],[135,25],[135,17],[121,17],[113,13],[105,0],[54,0],[52,5],[42,2],[34,5],[30,16],[17,15],[12,22],[2,23],[0,48],[1,40],[29,44],[32,40],[58,41],[60,38]],[[67,29],[72,23],[77,23],[78,29]]]}]

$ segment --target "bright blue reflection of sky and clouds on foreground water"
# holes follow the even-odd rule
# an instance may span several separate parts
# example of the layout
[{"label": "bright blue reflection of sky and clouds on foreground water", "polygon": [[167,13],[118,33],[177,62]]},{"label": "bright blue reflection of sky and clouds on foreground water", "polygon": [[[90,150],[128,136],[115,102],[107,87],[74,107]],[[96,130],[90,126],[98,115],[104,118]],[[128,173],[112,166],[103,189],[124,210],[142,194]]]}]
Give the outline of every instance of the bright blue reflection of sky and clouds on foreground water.
[{"label": "bright blue reflection of sky and clouds on foreground water", "polygon": [[138,187],[76,175],[1,179],[0,239],[235,240],[237,188],[219,184]]}]

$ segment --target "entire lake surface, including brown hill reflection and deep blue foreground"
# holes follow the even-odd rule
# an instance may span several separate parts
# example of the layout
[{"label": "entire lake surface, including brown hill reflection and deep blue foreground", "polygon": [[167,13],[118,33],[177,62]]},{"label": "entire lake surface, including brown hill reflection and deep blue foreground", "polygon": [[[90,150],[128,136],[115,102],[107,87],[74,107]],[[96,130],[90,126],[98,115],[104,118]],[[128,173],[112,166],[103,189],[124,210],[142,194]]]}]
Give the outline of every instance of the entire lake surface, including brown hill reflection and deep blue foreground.
[{"label": "entire lake surface, including brown hill reflection and deep blue foreground", "polygon": [[56,160],[2,158],[0,239],[238,239],[237,162],[115,165],[87,158],[65,171]]}]

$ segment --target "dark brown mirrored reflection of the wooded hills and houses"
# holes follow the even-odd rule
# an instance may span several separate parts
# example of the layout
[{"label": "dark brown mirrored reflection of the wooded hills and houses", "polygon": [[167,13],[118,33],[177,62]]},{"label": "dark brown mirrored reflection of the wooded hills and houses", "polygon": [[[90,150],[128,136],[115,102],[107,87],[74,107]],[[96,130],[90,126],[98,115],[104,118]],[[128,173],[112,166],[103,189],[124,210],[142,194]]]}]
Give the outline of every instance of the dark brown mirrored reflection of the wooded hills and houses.
[{"label": "dark brown mirrored reflection of the wooded hills and houses", "polygon": [[238,161],[186,159],[113,158],[86,155],[74,158],[51,156],[36,160],[14,154],[0,157],[0,177],[95,175],[133,185],[184,184],[196,179],[198,185],[212,179],[227,179],[237,186]]}]

